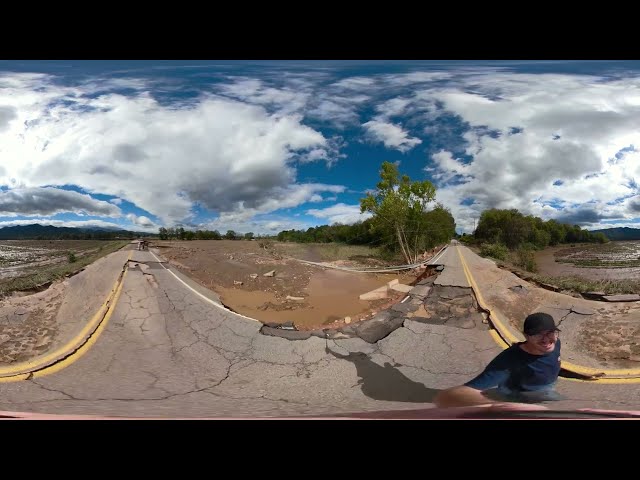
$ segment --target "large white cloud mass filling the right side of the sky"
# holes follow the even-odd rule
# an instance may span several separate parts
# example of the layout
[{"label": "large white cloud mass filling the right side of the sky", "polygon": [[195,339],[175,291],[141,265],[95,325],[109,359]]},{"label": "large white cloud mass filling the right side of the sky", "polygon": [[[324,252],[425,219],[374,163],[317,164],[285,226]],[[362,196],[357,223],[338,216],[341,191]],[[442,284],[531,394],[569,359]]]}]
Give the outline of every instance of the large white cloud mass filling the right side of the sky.
[{"label": "large white cloud mass filling the right side of the sky", "polygon": [[[625,202],[607,203],[637,191],[631,181],[640,177],[640,157],[619,152],[640,144],[640,78],[493,72],[460,85],[416,94],[471,127],[464,134],[466,161],[441,151],[426,166],[458,226],[471,231],[486,208],[517,208],[586,227],[630,218]],[[466,198],[476,203],[460,205]]]}]

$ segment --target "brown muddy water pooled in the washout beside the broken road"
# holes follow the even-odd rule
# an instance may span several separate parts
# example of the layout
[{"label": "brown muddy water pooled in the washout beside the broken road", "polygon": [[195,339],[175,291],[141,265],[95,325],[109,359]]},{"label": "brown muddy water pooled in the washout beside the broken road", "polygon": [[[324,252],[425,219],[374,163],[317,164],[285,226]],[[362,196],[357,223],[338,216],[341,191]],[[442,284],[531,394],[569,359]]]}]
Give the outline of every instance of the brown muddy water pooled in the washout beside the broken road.
[{"label": "brown muddy water pooled in the washout beside the broken road", "polygon": [[[216,290],[219,290],[225,305],[243,315],[263,322],[291,321],[299,326],[311,326],[329,324],[347,316],[355,320],[373,305],[371,301],[360,300],[359,296],[396,278],[406,284],[415,280],[415,277],[397,274],[324,270],[311,277],[305,287],[307,296],[304,301],[278,299],[271,292],[248,292],[241,288],[216,287]],[[268,308],[265,309],[265,305]]]}]

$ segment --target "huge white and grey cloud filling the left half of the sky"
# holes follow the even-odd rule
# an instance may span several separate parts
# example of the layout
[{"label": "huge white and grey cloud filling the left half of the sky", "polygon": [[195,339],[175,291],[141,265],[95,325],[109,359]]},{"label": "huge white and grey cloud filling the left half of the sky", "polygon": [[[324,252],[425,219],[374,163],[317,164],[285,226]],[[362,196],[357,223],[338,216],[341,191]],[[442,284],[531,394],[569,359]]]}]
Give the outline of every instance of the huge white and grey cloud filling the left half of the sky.
[{"label": "huge white and grey cloud filling the left half of the sky", "polygon": [[[299,115],[262,106],[211,97],[175,109],[148,94],[85,97],[80,87],[54,86],[43,76],[2,82],[10,88],[0,89],[0,105],[17,118],[0,132],[0,185],[81,185],[169,225],[188,218],[193,202],[220,212],[279,209],[283,202],[274,199],[295,190],[298,152],[336,157]],[[258,98],[267,97],[276,95],[266,89]]]}]

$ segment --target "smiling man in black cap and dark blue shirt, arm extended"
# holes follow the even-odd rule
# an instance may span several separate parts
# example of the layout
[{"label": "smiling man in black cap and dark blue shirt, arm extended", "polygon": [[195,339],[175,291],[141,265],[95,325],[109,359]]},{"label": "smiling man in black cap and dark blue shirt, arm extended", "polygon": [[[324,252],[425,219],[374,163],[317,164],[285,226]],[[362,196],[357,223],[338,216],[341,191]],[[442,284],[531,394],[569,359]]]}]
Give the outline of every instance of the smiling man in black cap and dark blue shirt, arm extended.
[{"label": "smiling man in black cap and dark blue shirt, arm extended", "polygon": [[[492,393],[497,393],[501,399],[498,402],[560,400],[562,397],[555,391],[560,373],[560,330],[551,315],[538,312],[525,319],[523,331],[526,341],[499,353],[473,380],[440,392],[435,404],[438,407],[496,405],[496,399],[490,398]],[[495,392],[486,392],[494,387],[497,387]],[[503,403],[499,405],[507,407]]]}]

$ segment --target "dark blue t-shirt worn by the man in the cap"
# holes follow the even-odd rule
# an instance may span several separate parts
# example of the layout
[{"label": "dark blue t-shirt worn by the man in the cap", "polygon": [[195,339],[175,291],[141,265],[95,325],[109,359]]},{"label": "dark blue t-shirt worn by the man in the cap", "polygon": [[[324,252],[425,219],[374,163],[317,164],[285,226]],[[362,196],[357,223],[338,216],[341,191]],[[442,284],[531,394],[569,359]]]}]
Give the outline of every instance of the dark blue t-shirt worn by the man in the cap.
[{"label": "dark blue t-shirt worn by the man in the cap", "polygon": [[560,339],[556,340],[553,352],[545,355],[532,355],[520,345],[516,343],[502,351],[480,375],[465,385],[477,390],[506,387],[521,392],[554,384],[560,373]]}]

